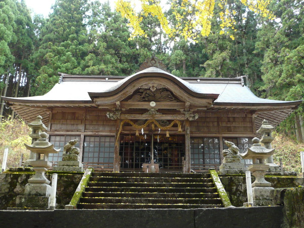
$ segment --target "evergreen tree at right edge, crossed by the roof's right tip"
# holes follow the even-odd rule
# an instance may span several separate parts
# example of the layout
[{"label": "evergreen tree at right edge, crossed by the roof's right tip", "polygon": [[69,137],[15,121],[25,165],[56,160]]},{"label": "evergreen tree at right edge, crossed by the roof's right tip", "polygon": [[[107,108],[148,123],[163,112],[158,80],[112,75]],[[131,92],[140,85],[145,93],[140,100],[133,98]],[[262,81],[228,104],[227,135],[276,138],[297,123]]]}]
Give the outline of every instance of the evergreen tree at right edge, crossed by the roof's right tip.
[{"label": "evergreen tree at right edge, crossed by the roof's right tip", "polygon": [[[300,0],[283,0],[274,9],[278,20],[264,24],[258,33],[256,49],[266,50],[260,90],[270,99],[301,100],[304,98],[304,7]],[[284,131],[295,132],[297,139],[303,141],[303,124],[302,104],[282,126]]]}]

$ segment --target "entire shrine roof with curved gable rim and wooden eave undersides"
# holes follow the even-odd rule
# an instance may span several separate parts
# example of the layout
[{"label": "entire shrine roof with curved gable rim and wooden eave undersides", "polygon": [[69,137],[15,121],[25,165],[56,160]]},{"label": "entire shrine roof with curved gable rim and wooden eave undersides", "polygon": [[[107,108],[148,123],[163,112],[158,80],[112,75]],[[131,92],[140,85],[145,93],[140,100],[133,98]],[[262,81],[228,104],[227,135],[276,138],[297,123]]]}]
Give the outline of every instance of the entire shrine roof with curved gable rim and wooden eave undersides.
[{"label": "entire shrine roof with curved gable rim and wooden eave undersides", "polygon": [[60,83],[43,96],[3,98],[25,121],[32,121],[37,113],[47,116],[46,110],[51,107],[96,107],[92,98],[115,96],[128,86],[134,91],[136,82],[148,83],[151,79],[174,84],[175,89],[197,100],[212,98],[213,103],[208,110],[255,110],[259,113],[256,126],[260,126],[263,118],[278,125],[301,103],[258,98],[241,79],[178,78],[156,67],[146,68],[129,77],[62,74]]}]

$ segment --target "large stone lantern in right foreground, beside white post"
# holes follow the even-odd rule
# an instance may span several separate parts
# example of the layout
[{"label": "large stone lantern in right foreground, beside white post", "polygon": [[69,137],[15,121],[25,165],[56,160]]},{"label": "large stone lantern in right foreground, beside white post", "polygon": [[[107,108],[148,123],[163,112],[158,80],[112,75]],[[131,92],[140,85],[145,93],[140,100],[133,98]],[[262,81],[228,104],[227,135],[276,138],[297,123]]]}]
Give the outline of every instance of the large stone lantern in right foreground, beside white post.
[{"label": "large stone lantern in right foreground, beside white post", "polygon": [[252,139],[252,146],[247,152],[240,154],[243,159],[252,159],[253,164],[248,167],[248,170],[255,177],[255,181],[251,184],[253,204],[256,206],[268,206],[272,204],[271,183],[264,179],[266,171],[269,169],[268,164],[264,164],[264,160],[274,154],[275,149],[267,149],[259,143],[258,138]]}]

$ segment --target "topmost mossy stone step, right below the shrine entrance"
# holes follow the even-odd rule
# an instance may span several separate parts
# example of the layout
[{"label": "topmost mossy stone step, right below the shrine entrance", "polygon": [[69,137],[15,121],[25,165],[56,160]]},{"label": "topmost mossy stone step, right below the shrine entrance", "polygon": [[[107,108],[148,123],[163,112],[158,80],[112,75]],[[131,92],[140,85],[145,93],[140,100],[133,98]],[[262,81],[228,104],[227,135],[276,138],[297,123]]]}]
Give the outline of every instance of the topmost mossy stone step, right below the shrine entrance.
[{"label": "topmost mossy stone step, right below the shrine entrance", "polygon": [[210,173],[140,173],[140,172],[93,172],[92,176],[108,177],[168,177],[168,178],[210,178]]}]

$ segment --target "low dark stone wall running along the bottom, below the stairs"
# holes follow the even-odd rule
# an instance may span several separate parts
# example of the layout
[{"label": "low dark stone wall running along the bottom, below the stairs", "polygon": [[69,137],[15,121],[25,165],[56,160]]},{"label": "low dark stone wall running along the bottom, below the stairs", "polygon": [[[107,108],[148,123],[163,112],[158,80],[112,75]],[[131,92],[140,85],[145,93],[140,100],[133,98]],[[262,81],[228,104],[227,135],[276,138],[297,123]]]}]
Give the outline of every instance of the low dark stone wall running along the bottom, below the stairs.
[{"label": "low dark stone wall running along the bottom, below the stairs", "polygon": [[0,211],[2,227],[280,227],[282,207]]}]

